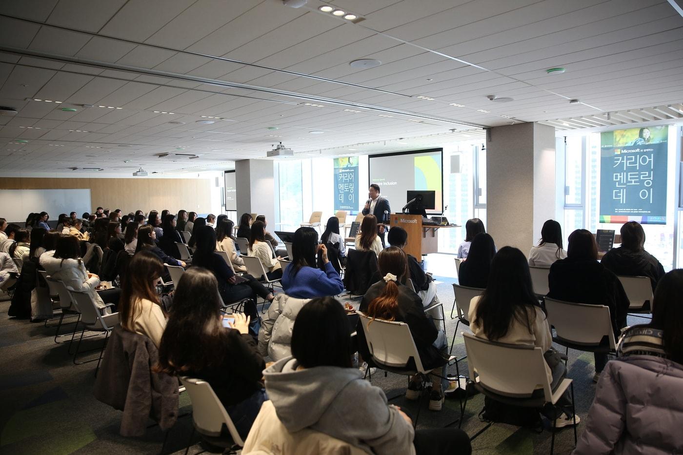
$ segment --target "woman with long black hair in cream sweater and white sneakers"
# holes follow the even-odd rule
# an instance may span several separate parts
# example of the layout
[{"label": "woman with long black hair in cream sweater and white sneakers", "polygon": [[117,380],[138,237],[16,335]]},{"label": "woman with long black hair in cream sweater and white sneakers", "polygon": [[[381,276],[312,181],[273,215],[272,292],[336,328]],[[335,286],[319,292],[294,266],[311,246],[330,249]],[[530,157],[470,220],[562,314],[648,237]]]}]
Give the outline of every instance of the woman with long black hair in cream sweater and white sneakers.
[{"label": "woman with long black hair in cream sweater and white sneakers", "polygon": [[[477,237],[482,235],[487,234]],[[542,348],[546,353],[546,374],[553,390],[566,376],[567,369],[559,354],[550,350],[553,345],[550,326],[533,293],[529,264],[522,251],[513,247],[501,248],[491,263],[488,286],[481,296],[472,299],[468,316],[470,329],[476,337]],[[557,428],[573,425],[569,390],[565,391],[555,406],[546,406],[543,414],[550,422],[557,419]],[[579,416],[576,416],[576,423],[579,422]]]}]

